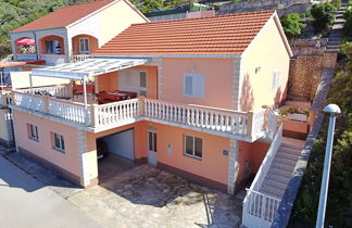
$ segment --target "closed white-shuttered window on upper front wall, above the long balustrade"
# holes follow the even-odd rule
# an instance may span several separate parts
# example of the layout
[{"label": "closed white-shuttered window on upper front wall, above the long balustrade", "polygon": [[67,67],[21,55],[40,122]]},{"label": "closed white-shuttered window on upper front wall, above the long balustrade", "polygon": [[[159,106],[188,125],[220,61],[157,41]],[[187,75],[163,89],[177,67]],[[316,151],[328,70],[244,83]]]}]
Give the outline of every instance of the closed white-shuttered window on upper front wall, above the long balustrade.
[{"label": "closed white-shuttered window on upper front wall, above the long balustrade", "polygon": [[[186,91],[186,78],[192,78],[192,91]],[[185,73],[184,74],[184,96],[192,98],[204,98],[205,93],[205,76],[203,74]]]}]

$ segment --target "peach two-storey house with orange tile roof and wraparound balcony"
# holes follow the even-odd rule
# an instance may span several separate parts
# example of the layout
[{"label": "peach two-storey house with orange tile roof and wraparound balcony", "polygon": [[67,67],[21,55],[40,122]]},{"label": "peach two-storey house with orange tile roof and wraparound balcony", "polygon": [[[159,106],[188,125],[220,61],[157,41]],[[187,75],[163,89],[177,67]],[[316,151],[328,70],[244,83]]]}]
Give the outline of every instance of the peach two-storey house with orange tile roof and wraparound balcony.
[{"label": "peach two-storey house with orange tile roof and wraparound balcony", "polygon": [[[92,55],[32,69],[83,92],[16,89],[11,104],[16,150],[83,187],[99,183],[106,145],[234,194],[281,144],[271,107],[286,98],[292,53],[275,11],[134,24]],[[249,198],[272,199],[256,190]]]}]

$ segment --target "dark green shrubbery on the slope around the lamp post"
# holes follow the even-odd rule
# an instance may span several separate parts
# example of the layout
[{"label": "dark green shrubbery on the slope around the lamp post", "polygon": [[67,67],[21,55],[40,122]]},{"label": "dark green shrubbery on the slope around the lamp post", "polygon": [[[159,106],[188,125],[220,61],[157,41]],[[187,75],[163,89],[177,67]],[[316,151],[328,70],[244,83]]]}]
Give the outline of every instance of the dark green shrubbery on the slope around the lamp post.
[{"label": "dark green shrubbery on the slope around the lamp post", "polygon": [[[342,113],[336,123],[325,216],[326,227],[351,227],[352,224],[352,42],[342,45],[341,50],[349,59],[342,71],[337,73],[327,99],[327,103],[338,104]],[[325,116],[288,227],[315,226],[327,129],[328,117]]]}]

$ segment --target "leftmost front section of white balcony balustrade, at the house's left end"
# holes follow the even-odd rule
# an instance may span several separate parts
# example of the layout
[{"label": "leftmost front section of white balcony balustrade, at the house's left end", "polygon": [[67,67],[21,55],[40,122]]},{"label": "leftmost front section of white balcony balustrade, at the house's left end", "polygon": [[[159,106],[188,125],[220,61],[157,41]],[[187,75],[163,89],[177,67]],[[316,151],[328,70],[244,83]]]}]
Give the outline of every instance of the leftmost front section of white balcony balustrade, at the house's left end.
[{"label": "leftmost front section of white balcony balustrade, at the house's left end", "polygon": [[13,92],[14,104],[21,107],[30,109],[38,112],[45,112],[45,98],[41,96]]}]

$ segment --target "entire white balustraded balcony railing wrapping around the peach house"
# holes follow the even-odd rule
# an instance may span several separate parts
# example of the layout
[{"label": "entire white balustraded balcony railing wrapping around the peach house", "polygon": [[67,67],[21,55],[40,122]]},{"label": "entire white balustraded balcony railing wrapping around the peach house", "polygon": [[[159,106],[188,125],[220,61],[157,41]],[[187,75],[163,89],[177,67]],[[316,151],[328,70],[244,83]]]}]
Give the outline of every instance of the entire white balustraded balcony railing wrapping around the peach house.
[{"label": "entire white balustraded balcony railing wrapping around the peach house", "polygon": [[[51,97],[38,94],[39,90],[50,93]],[[73,98],[67,98],[67,94],[66,86],[15,90],[12,92],[12,107],[43,114],[66,124],[79,125],[93,132],[139,121],[149,121],[254,141],[263,137],[266,129],[267,112],[265,110],[237,112],[144,97],[106,104],[97,104],[92,98],[86,106],[84,103],[74,101]]]}]

